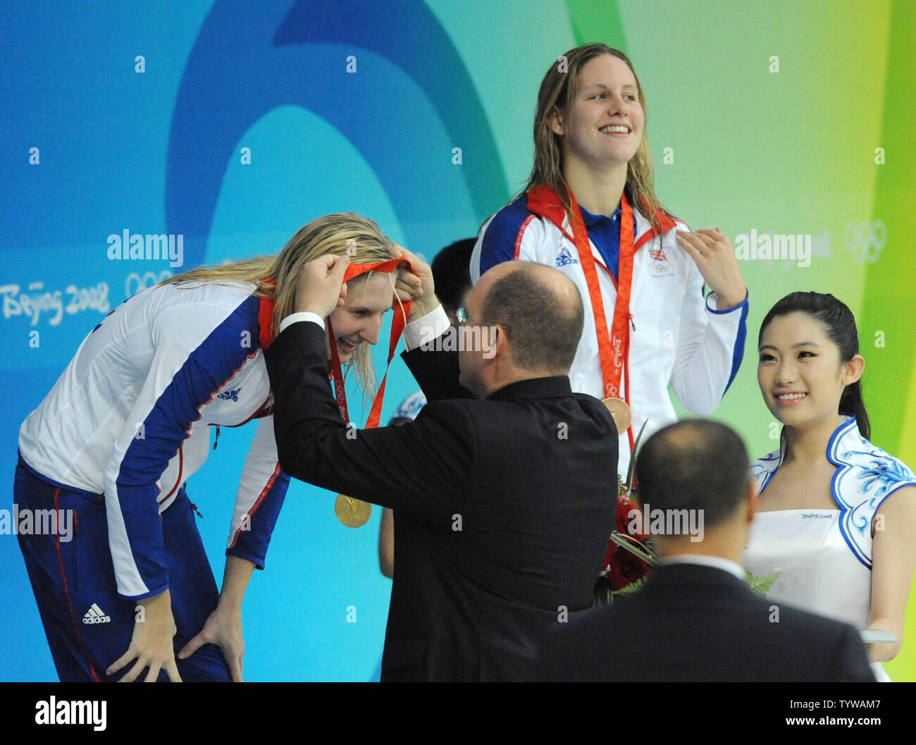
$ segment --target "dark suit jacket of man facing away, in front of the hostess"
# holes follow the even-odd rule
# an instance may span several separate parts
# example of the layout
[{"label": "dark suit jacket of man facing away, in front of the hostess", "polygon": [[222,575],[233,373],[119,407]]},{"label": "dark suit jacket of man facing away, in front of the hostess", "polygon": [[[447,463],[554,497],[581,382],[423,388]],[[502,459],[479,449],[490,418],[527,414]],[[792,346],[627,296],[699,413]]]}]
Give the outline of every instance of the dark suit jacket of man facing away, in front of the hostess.
[{"label": "dark suit jacket of man facing away, in front of the hostess", "polygon": [[637,593],[557,629],[543,680],[872,682],[848,624],[758,597],[727,572],[664,565]]}]

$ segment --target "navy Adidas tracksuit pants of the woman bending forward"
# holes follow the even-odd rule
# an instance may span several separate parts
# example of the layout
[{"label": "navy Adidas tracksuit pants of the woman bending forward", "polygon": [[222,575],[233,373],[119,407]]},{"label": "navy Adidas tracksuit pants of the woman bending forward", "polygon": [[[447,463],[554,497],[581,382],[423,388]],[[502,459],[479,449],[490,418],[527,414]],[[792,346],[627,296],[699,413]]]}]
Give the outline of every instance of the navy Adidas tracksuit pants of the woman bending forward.
[{"label": "navy Adidas tracksuit pants of the woman bending forward", "polygon": [[[117,594],[104,497],[49,484],[21,458],[13,493],[20,513],[23,509],[73,510],[70,541],[60,540],[66,538],[60,530],[56,535],[18,536],[61,682],[119,679],[134,663],[112,676],[105,669],[130,646],[137,605]],[[223,652],[215,644],[205,644],[187,660],[178,659],[180,649],[203,628],[219,599],[184,489],[162,513],[162,537],[178,628],[174,646],[181,680],[230,681]],[[141,674],[137,680],[144,677]],[[168,679],[165,671],[159,672],[158,681]]]}]

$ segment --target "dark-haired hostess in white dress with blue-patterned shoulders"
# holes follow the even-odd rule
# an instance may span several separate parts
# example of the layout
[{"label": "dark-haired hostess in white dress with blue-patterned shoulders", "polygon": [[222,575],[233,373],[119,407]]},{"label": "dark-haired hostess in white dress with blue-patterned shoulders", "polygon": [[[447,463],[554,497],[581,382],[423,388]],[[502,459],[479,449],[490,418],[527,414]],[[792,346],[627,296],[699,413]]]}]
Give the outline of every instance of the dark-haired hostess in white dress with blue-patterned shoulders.
[{"label": "dark-haired hostess in white dress with blue-patterned shoulders", "polygon": [[833,295],[793,292],[760,326],[758,382],[782,422],[780,449],[753,466],[758,519],[744,555],[780,572],[768,597],[857,629],[891,633],[870,656],[900,652],[916,567],[916,476],[871,444],[856,319]]}]

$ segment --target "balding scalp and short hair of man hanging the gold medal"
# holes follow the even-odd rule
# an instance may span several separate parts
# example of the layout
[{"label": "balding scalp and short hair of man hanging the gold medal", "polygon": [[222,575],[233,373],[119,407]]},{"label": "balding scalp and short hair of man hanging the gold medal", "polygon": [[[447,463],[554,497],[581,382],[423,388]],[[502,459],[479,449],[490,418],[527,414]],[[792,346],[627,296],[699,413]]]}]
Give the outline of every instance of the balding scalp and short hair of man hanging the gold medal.
[{"label": "balding scalp and short hair of man hanging the gold medal", "polygon": [[485,292],[485,323],[507,329],[518,367],[569,373],[584,318],[582,297],[572,279],[541,264],[507,261],[487,271],[475,290]]}]

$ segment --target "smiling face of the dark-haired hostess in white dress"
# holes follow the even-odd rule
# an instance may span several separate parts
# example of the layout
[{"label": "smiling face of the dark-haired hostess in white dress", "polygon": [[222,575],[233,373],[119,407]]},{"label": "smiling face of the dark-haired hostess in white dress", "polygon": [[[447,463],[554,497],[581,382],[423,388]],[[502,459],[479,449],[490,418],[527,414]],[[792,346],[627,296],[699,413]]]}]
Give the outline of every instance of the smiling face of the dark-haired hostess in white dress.
[{"label": "smiling face of the dark-haired hostess in white dress", "polygon": [[787,426],[833,422],[840,397],[862,375],[859,355],[844,363],[820,321],[803,312],[774,318],[760,336],[757,379],[769,411]]}]

